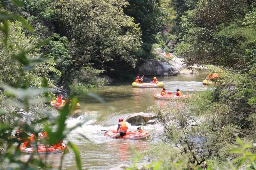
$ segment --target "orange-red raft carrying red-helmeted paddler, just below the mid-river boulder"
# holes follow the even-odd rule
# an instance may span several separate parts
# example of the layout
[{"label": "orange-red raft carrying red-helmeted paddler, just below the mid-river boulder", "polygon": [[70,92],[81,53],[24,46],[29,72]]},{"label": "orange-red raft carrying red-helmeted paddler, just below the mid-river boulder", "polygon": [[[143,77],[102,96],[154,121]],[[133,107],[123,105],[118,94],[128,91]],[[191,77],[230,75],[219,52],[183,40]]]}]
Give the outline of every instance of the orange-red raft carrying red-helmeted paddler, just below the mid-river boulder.
[{"label": "orange-red raft carrying red-helmeted paddler, just below the mid-river boulder", "polygon": [[[105,132],[104,136],[112,137],[116,135],[116,129],[111,129]],[[131,140],[138,140],[138,139],[147,139],[150,136],[149,131],[145,131],[139,133],[137,130],[127,130],[126,135],[123,137],[117,137],[117,139],[131,139]]]}]

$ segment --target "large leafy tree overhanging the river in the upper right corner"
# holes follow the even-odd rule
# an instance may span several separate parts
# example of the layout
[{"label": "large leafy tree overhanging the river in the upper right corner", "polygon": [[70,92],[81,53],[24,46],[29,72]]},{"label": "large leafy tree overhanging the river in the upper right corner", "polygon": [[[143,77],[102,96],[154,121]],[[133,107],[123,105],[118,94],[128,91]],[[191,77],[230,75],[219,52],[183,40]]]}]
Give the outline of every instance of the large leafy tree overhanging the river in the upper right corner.
[{"label": "large leafy tree overhanging the river in the upper right corner", "polygon": [[176,54],[187,66],[214,64],[250,71],[254,67],[250,51],[255,48],[253,5],[251,1],[198,1],[181,17],[182,42]]}]

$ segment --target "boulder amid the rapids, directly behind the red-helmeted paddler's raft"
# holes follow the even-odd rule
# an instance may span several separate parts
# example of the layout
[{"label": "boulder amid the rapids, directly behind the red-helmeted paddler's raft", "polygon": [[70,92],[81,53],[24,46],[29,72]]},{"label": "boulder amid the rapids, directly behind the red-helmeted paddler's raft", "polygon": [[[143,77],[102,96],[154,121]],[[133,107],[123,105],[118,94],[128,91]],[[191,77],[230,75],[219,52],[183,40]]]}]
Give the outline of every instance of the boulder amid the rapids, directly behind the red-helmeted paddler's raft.
[{"label": "boulder amid the rapids, directly behind the red-helmeted paddler's raft", "polygon": [[156,115],[152,113],[134,113],[124,118],[124,122],[128,122],[131,125],[140,125],[141,123],[147,123],[151,119],[155,119]]}]

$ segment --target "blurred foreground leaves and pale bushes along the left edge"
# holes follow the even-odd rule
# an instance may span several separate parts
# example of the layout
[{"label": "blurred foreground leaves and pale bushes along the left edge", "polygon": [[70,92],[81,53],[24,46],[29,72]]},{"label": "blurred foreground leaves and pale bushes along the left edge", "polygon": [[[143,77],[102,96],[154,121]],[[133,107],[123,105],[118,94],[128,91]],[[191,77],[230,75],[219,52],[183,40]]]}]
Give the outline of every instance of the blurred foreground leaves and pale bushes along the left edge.
[{"label": "blurred foreground leaves and pale bushes along the left edge", "polygon": [[[19,1],[14,1],[20,4]],[[53,60],[45,60],[45,54],[41,53],[42,46],[49,41],[38,41],[34,36],[26,36],[22,31],[22,25],[27,22],[19,15],[12,13],[1,13],[3,26],[0,34],[2,44],[0,50],[1,66],[1,84],[0,84],[0,145],[6,149],[1,149],[0,162],[1,165],[15,164],[17,169],[36,169],[52,168],[46,166],[43,160],[34,157],[38,144],[56,144],[60,142],[67,134],[82,123],[77,124],[74,128],[66,127],[66,120],[69,113],[72,113],[76,107],[78,99],[73,97],[72,91],[70,98],[71,106],[68,101],[65,107],[60,111],[57,117],[49,114],[44,102],[49,102],[48,84],[50,71],[58,74],[58,70],[54,68],[56,63]],[[19,21],[11,23],[10,20],[18,19]],[[10,19],[10,20],[8,20]],[[2,20],[1,20],[2,21]],[[10,26],[10,27],[9,27]],[[27,26],[30,28],[30,26]],[[51,56],[51,55],[50,55]],[[7,67],[8,65],[9,67]],[[10,78],[8,78],[10,77]],[[44,108],[44,109],[43,109]],[[46,108],[46,109],[45,109]],[[25,116],[27,115],[27,117]],[[29,118],[29,119],[28,119]],[[49,138],[46,140],[38,140],[38,134],[41,132],[42,124],[47,131]],[[22,132],[21,140],[10,138],[14,130],[23,129],[24,132],[35,134],[35,152],[31,154],[27,161],[21,161],[19,156],[20,145],[28,140],[28,135]],[[18,146],[17,146],[18,143]],[[81,160],[76,145],[69,142],[70,148],[75,152],[78,169],[81,169]],[[66,153],[66,151],[64,151]],[[60,161],[63,160],[63,157]],[[60,167],[61,169],[61,167]]]}]

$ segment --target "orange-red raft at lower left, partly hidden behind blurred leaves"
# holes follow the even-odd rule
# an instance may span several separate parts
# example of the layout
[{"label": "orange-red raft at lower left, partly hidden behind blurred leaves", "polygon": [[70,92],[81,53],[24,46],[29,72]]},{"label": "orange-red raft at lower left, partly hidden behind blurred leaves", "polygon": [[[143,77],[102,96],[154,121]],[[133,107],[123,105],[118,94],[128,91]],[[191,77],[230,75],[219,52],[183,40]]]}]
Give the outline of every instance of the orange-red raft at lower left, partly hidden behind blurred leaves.
[{"label": "orange-red raft at lower left, partly hidden behind blurred leaves", "polygon": [[[56,148],[53,148],[53,147],[49,147],[49,148],[46,148],[44,145],[39,145],[38,148],[37,148],[37,153],[38,154],[45,154],[45,153],[61,153],[64,151],[65,147],[67,148],[67,151],[69,151],[69,147],[65,144],[61,144],[60,147],[56,147]],[[33,153],[34,152],[34,148],[25,148],[23,147],[22,145],[20,145],[20,151],[22,153]]]}]

